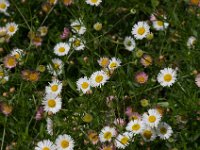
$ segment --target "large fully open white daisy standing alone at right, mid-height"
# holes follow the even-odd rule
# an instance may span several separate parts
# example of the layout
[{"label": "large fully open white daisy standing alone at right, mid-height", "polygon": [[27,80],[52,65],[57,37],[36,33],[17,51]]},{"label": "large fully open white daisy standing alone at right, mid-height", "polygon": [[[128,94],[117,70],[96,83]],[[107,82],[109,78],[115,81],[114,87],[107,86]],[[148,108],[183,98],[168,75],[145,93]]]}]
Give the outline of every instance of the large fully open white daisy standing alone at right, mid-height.
[{"label": "large fully open white daisy standing alone at right, mid-height", "polygon": [[157,81],[162,85],[165,86],[172,86],[176,81],[176,70],[172,68],[164,68],[163,70],[160,70],[160,73],[157,76]]}]

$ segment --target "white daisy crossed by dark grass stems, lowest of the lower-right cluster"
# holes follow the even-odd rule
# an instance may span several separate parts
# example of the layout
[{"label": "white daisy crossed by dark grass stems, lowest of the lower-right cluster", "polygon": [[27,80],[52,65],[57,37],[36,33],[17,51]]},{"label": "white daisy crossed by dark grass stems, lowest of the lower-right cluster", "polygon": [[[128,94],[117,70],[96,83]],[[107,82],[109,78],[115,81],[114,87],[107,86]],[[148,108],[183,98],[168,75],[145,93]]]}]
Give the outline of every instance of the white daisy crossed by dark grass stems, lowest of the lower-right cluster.
[{"label": "white daisy crossed by dark grass stems, lowest of the lower-right cluster", "polygon": [[115,140],[115,146],[119,149],[125,149],[129,145],[132,137],[133,134],[130,132],[119,134]]}]

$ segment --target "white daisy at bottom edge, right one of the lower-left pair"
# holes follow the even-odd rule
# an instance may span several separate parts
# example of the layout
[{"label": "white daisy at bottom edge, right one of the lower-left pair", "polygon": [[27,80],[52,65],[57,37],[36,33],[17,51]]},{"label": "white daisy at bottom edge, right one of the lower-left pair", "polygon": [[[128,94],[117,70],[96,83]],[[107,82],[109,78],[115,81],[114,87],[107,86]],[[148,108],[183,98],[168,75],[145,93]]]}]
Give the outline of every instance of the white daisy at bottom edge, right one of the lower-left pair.
[{"label": "white daisy at bottom edge, right one of the lower-left pair", "polygon": [[74,140],[70,135],[63,134],[59,135],[56,138],[56,148],[58,150],[73,150],[74,149]]}]

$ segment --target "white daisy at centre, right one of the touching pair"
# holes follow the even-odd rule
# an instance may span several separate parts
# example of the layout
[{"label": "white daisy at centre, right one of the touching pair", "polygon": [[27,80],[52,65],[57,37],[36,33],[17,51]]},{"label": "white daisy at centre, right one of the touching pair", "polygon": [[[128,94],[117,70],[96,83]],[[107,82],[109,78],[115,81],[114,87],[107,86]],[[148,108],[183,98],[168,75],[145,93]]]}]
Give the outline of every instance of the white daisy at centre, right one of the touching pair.
[{"label": "white daisy at centre, right one of the touching pair", "polygon": [[90,77],[90,83],[92,87],[101,87],[108,80],[108,75],[104,71],[96,71]]}]

